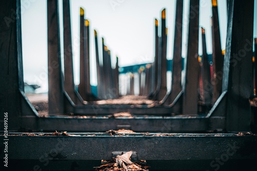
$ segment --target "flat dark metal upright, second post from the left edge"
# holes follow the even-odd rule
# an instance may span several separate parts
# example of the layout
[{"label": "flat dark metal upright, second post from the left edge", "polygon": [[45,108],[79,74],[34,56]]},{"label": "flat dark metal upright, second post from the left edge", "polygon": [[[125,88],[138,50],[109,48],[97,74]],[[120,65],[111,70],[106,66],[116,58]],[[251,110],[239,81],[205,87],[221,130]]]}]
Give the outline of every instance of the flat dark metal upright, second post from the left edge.
[{"label": "flat dark metal upright, second post from the left edge", "polygon": [[[64,113],[58,0],[47,1],[49,115]],[[51,71],[51,72],[50,72]]]}]

